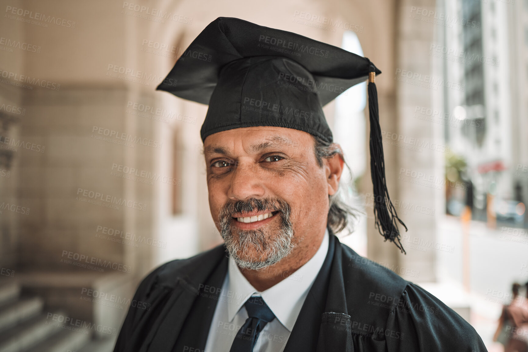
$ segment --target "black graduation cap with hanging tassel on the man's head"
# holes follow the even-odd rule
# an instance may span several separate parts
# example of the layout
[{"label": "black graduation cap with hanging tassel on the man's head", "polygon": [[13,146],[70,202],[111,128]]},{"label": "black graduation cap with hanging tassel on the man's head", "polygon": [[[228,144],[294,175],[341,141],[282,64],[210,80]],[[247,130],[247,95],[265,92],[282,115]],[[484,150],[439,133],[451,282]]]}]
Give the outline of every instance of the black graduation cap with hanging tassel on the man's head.
[{"label": "black graduation cap with hanging tassel on the man's head", "polygon": [[[332,142],[323,106],[369,79],[370,153],[376,227],[404,252],[385,182],[375,74],[369,59],[308,37],[218,17],[196,37],[157,90],[208,104],[202,141],[216,132],[276,126]],[[407,227],[406,227],[407,230]]]}]

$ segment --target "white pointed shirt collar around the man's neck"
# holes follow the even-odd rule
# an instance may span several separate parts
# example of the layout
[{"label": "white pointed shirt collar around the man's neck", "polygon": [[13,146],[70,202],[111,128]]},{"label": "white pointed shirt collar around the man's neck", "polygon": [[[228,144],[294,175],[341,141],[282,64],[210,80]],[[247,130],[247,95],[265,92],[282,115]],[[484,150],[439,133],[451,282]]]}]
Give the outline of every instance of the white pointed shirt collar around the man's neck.
[{"label": "white pointed shirt collar around the man's neck", "polygon": [[[227,278],[227,295],[230,298],[228,300],[229,321],[233,321],[240,308],[254,294],[254,296],[262,296],[275,317],[291,332],[308,291],[323,266],[328,252],[328,236],[328,229],[326,229],[323,241],[315,255],[288,278],[263,292],[257,291],[248,282],[234,260],[229,257]],[[287,294],[285,294],[286,292]]]}]

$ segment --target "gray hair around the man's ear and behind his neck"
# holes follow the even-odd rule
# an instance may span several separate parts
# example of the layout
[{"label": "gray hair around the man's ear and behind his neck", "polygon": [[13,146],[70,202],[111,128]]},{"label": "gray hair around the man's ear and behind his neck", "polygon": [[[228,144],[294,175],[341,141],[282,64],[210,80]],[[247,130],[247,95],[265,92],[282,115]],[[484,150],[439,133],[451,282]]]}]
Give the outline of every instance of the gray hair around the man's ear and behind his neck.
[{"label": "gray hair around the man's ear and behind his neck", "polygon": [[[319,137],[313,136],[314,139],[314,151],[315,151],[315,158],[317,160],[317,165],[322,168],[323,167],[323,158],[329,159],[332,158],[334,155],[338,154],[340,158],[344,161],[346,168],[350,172],[350,175],[352,175],[352,170],[350,169],[350,166],[345,161],[345,156],[343,155],[343,151],[341,148],[337,147],[335,144],[326,142]],[[344,191],[343,191],[344,185],[342,182],[340,182],[339,188],[337,189],[337,192],[333,195],[328,196],[329,200],[329,209],[328,209],[328,220],[327,224],[332,229],[334,233],[338,233],[343,231],[347,225],[351,225],[352,219],[357,219],[357,216],[359,215],[359,212],[357,212],[353,207],[348,205],[345,202],[344,199]],[[351,230],[352,227],[350,227]]]}]

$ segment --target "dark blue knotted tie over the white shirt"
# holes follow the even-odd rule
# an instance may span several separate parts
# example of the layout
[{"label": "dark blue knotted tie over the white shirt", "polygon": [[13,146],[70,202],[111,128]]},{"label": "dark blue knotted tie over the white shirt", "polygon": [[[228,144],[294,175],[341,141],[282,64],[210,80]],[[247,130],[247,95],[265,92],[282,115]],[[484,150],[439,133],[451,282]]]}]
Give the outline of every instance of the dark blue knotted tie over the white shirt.
[{"label": "dark blue knotted tie over the white shirt", "polygon": [[252,352],[260,331],[275,318],[275,314],[260,296],[250,297],[244,303],[244,307],[248,311],[249,318],[238,330],[229,352]]}]

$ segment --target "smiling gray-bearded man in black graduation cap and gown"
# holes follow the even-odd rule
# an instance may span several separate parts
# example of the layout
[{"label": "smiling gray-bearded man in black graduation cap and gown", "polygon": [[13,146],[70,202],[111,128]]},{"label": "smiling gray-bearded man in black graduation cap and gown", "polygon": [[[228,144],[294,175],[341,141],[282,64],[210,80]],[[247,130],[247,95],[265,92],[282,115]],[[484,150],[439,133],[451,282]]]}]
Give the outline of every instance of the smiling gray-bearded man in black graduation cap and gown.
[{"label": "smiling gray-bearded man in black graduation cap and gown", "polygon": [[369,77],[376,225],[403,251],[385,185],[381,72],[368,59],[225,17],[182,58],[158,89],[209,104],[201,137],[225,243],[150,273],[134,299],[152,306],[129,310],[115,351],[486,350],[437,298],[334,235],[350,210],[322,107]]}]

